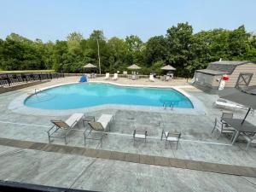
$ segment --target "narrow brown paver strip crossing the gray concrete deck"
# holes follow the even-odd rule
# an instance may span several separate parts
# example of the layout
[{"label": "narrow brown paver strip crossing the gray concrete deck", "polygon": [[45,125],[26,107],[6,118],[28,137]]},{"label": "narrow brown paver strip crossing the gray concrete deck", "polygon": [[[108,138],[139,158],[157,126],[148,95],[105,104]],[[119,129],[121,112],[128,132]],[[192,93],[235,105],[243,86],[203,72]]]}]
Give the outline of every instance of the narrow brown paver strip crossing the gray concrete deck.
[{"label": "narrow brown paver strip crossing the gray concrete deck", "polygon": [[230,166],[217,163],[208,163],[197,160],[181,160],[176,158],[166,158],[161,156],[144,155],[144,154],[131,154],[116,152],[110,150],[102,150],[95,148],[81,148],[71,147],[66,145],[47,144],[28,142],[8,138],[0,138],[0,145],[15,147],[15,148],[28,148],[34,150],[41,150],[45,152],[55,152],[61,154],[75,154],[92,158],[101,158],[105,160],[120,160],[125,162],[140,163],[154,166],[170,166],[176,168],[183,168],[189,170],[196,170],[202,172],[216,172],[221,174],[256,177],[256,168],[247,166]]}]

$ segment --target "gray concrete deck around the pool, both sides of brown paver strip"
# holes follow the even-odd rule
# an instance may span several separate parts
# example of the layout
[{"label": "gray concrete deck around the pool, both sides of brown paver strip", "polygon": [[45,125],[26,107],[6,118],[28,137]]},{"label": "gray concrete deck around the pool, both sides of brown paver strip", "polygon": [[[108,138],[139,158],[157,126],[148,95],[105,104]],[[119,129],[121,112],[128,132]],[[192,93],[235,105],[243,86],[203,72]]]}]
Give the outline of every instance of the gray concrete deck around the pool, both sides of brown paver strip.
[{"label": "gray concrete deck around the pool, both sides of brown paver strip", "polygon": [[[20,148],[0,145],[0,179],[100,191],[170,191],[171,186],[172,191],[256,191],[256,180],[253,177],[22,148],[22,141],[48,143],[45,131],[49,129],[49,119],[67,119],[68,115],[15,113],[9,109],[9,103],[35,88],[72,83],[78,79],[79,77],[55,79],[46,84],[0,95],[1,137],[20,141]],[[93,80],[102,81],[102,79]],[[150,83],[147,82],[148,79],[140,80],[119,79],[115,83],[135,82],[143,85]],[[144,84],[144,81],[147,84]],[[236,143],[232,146],[228,138],[220,137],[217,140],[216,134],[211,134],[213,120],[221,113],[218,108],[212,106],[218,96],[207,95],[186,84],[185,80],[157,83],[152,84],[165,86],[163,84],[166,83],[166,86],[170,84],[180,86],[180,89],[202,102],[207,113],[176,113],[175,109],[172,113],[165,111],[159,113],[99,108],[87,114],[94,115],[97,119],[102,113],[113,113],[113,126],[108,136],[104,137],[102,146],[96,141],[91,141],[86,143],[85,147],[230,166],[256,167],[255,148],[245,151],[245,143]],[[236,117],[242,117],[244,114],[243,111],[235,112]],[[253,116],[250,115],[248,120],[256,124]],[[161,126],[158,126],[159,121],[162,122]],[[148,130],[148,143],[137,141],[133,144],[131,133],[134,128]],[[162,128],[182,132],[181,143],[177,150],[174,146],[165,146],[165,142],[160,141]],[[84,148],[82,133],[81,130],[73,131],[67,147]],[[53,144],[63,145],[64,142],[55,139]]]}]

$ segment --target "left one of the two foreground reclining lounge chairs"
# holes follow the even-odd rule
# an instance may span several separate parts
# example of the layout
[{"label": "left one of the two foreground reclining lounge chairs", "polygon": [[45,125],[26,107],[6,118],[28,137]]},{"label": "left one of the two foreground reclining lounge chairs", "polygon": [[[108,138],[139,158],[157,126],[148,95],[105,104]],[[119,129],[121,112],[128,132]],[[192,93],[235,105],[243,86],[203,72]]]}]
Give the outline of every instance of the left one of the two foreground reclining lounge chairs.
[{"label": "left one of the two foreground reclining lounge chairs", "polygon": [[[54,125],[47,131],[49,143],[51,137],[64,138],[65,144],[67,144],[67,135],[73,129],[75,125],[79,125],[79,120],[84,117],[84,113],[73,113],[67,120],[63,121],[61,119],[50,120]],[[55,129],[54,129],[55,128]],[[61,133],[59,133],[61,130]]]}]

